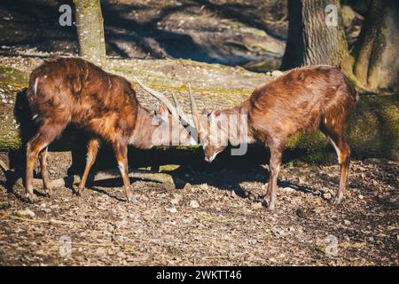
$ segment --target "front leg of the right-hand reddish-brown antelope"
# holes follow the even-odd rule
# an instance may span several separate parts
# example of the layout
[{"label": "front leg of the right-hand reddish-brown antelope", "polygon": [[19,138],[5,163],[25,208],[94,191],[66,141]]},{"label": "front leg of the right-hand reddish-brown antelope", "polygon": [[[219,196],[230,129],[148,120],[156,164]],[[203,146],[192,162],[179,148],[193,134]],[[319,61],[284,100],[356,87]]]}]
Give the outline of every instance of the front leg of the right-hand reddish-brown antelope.
[{"label": "front leg of the right-hand reddish-brown antelope", "polygon": [[280,148],[270,147],[270,176],[268,191],[266,193],[266,201],[268,201],[269,209],[276,208],[277,187],[278,187],[278,171],[280,170],[282,150]]}]

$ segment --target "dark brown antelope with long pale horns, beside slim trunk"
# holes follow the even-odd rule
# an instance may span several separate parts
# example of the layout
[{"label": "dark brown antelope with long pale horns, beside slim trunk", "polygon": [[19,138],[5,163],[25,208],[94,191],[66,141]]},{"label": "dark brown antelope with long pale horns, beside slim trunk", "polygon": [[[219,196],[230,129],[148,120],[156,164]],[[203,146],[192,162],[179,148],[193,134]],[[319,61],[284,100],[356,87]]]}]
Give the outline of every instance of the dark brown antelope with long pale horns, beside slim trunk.
[{"label": "dark brown antelope with long pale horns, beside slim trunk", "polygon": [[[191,128],[183,119],[180,107],[173,106],[160,92],[145,87],[138,80],[137,83],[168,107],[172,122],[179,121],[184,127]],[[37,155],[43,189],[45,193],[51,193],[46,171],[47,146],[69,123],[92,133],[86,167],[76,190],[78,194],[82,193],[90,168],[96,161],[101,138],[113,146],[128,201],[132,197],[127,159],[129,144],[151,148],[179,142],[196,143],[182,124],[169,123],[163,108],[160,107],[161,115],[154,115],[140,106],[136,92],[126,79],[106,73],[83,59],[61,57],[44,61],[30,75],[27,98],[38,126],[35,136],[27,143],[26,194],[30,201],[35,200],[33,168]]]}]

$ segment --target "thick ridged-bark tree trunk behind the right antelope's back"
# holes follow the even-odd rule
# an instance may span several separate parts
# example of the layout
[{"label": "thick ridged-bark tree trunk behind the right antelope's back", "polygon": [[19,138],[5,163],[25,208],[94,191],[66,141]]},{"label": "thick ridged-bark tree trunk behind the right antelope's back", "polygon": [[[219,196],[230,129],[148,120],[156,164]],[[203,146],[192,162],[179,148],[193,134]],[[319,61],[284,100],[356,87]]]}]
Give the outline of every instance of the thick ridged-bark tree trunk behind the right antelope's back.
[{"label": "thick ridged-bark tree trunk behind the right antelope's back", "polygon": [[[330,4],[333,10],[325,12]],[[282,69],[327,64],[351,72],[339,0],[288,1],[288,20]]]}]

